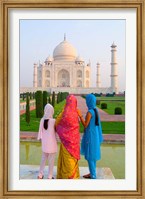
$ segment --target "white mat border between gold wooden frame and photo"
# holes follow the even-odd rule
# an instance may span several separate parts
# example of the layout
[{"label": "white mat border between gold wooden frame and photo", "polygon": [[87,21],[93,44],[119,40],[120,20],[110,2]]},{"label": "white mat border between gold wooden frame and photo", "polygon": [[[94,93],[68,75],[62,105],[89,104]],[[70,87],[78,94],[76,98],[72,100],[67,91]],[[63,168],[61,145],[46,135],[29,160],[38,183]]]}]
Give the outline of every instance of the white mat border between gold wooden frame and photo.
[{"label": "white mat border between gold wooden frame and photo", "polygon": [[[49,10],[49,12],[48,12]],[[51,10],[51,12],[50,12]],[[56,12],[55,12],[56,10]],[[58,10],[60,10],[60,15]],[[72,11],[71,11],[72,10]],[[77,10],[79,14],[76,14]],[[82,10],[82,13],[80,12]],[[85,13],[86,10],[86,13]],[[99,15],[95,15],[93,12],[97,11]],[[125,135],[125,171],[126,177],[121,180],[53,180],[53,181],[38,181],[34,180],[22,180],[19,179],[19,20],[20,19],[51,19],[58,18],[60,16],[69,16],[70,11],[74,17],[86,17],[87,19],[125,19],[126,20],[126,98],[125,98],[125,118],[126,118],[126,135]],[[90,11],[90,12],[89,12]],[[73,15],[73,12],[75,15]],[[47,16],[48,13],[48,16]],[[82,14],[82,15],[81,15]],[[8,121],[9,123],[9,184],[10,191],[123,191],[123,190],[136,190],[137,189],[137,173],[136,173],[136,121],[137,121],[137,82],[136,82],[136,9],[111,9],[111,8],[47,8],[47,9],[21,9],[11,8],[9,9],[9,71],[8,71]],[[70,18],[69,18],[70,17]],[[90,18],[89,18],[90,17]],[[80,18],[79,18],[80,19]],[[130,73],[131,71],[131,73]],[[132,108],[134,107],[134,108]],[[130,117],[131,113],[131,117]],[[17,122],[16,122],[17,121]],[[131,154],[134,154],[132,156]],[[33,184],[33,186],[32,186]]]}]

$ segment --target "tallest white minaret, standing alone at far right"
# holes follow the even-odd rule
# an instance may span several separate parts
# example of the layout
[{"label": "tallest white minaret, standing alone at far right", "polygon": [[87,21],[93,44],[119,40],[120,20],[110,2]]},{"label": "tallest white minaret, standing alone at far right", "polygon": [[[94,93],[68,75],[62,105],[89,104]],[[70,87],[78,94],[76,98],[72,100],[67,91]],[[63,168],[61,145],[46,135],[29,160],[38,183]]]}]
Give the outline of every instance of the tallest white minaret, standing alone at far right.
[{"label": "tallest white minaret, standing alone at far right", "polygon": [[116,45],[111,46],[111,90],[112,92],[118,93],[118,68],[117,68],[117,58],[116,58]]}]

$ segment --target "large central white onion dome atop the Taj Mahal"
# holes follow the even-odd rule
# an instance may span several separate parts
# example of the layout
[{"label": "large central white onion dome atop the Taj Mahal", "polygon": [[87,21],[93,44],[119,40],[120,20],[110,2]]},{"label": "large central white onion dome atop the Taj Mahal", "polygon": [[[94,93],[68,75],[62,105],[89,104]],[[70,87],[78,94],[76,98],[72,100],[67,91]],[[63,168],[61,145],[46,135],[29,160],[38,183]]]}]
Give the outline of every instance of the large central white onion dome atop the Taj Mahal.
[{"label": "large central white onion dome atop the Taj Mahal", "polygon": [[65,38],[53,51],[54,60],[75,60],[76,57],[76,49]]}]

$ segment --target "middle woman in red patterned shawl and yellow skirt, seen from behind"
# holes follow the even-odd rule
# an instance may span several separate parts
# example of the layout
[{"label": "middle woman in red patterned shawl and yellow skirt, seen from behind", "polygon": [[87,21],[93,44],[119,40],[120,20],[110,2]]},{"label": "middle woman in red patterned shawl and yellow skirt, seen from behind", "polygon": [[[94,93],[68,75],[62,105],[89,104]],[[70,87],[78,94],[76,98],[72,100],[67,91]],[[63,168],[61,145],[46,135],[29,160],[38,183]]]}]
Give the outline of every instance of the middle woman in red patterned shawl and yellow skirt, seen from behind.
[{"label": "middle woman in red patterned shawl and yellow skirt, seen from behind", "polygon": [[56,121],[56,131],[61,140],[57,164],[58,179],[78,179],[80,159],[80,133],[77,100],[69,95],[61,119]]}]

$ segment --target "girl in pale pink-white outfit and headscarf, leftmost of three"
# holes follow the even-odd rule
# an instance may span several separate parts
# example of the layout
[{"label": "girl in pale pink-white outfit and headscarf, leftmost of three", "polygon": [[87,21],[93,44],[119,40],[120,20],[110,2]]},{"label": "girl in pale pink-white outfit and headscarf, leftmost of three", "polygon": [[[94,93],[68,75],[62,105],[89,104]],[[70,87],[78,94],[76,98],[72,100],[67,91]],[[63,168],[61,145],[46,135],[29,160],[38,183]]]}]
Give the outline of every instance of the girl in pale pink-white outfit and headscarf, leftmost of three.
[{"label": "girl in pale pink-white outfit and headscarf, leftmost of three", "polygon": [[44,177],[44,167],[48,160],[48,179],[53,179],[53,167],[57,153],[57,141],[55,132],[55,119],[53,119],[54,108],[51,104],[46,104],[44,116],[40,121],[38,140],[42,143],[42,159],[38,179]]}]

